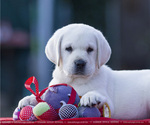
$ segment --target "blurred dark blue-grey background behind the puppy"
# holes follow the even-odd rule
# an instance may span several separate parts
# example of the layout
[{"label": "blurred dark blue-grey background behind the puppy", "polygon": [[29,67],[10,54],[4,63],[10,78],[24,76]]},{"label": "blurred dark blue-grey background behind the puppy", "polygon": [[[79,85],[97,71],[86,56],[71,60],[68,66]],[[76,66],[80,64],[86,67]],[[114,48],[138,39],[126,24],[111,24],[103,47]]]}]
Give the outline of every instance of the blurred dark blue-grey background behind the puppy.
[{"label": "blurred dark blue-grey background behind the puppy", "polygon": [[0,117],[11,117],[30,94],[24,82],[36,76],[40,90],[54,69],[44,49],[54,31],[70,23],[101,30],[112,48],[112,69],[150,69],[150,0],[1,0]]}]

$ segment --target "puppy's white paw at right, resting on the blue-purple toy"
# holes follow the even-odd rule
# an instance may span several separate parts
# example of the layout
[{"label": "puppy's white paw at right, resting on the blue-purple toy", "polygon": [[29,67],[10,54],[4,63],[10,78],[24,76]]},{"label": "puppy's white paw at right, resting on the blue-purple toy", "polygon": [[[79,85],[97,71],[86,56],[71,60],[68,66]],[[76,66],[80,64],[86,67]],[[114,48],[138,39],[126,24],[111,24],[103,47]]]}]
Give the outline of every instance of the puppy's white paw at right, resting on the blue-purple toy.
[{"label": "puppy's white paw at right, resting on the blue-purple toy", "polygon": [[98,108],[101,108],[105,102],[106,98],[97,92],[88,92],[80,100],[82,106],[97,106]]}]

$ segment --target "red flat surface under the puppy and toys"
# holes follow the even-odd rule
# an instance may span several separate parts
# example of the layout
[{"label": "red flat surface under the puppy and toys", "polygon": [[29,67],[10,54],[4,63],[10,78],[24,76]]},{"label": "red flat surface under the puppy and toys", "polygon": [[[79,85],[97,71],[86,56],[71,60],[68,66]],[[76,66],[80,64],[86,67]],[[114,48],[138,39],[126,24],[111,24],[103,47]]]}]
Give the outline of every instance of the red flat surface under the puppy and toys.
[{"label": "red flat surface under the puppy and toys", "polygon": [[13,121],[12,118],[0,118],[0,125],[93,125],[93,124],[150,124],[150,119],[116,120],[111,118],[73,118],[58,121]]}]

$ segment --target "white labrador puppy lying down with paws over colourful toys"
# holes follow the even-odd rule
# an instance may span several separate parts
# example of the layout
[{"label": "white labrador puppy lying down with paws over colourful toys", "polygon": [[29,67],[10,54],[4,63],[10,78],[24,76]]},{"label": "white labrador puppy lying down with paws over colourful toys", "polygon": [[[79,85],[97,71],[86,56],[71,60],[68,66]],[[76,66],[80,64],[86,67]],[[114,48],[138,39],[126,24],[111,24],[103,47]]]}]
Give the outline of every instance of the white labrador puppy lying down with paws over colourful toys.
[{"label": "white labrador puppy lying down with paws over colourful toys", "polygon": [[[106,102],[112,118],[150,118],[150,70],[107,67],[111,48],[100,31],[84,24],[65,26],[50,38],[45,53],[56,64],[50,85],[70,84],[82,96],[81,105]],[[37,103],[34,96],[23,98],[19,107],[29,103]]]}]

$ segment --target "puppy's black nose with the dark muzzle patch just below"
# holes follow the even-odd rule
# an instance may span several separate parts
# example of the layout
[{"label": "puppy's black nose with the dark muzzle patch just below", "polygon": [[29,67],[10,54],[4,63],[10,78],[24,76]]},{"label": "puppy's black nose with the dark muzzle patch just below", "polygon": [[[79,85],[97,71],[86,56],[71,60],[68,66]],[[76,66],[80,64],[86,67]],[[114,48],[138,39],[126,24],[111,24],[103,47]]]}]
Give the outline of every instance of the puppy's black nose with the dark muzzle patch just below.
[{"label": "puppy's black nose with the dark muzzle patch just below", "polygon": [[75,74],[76,75],[84,75],[84,70],[86,66],[86,62],[82,59],[76,60],[75,64]]}]

